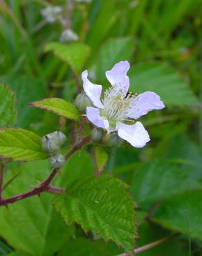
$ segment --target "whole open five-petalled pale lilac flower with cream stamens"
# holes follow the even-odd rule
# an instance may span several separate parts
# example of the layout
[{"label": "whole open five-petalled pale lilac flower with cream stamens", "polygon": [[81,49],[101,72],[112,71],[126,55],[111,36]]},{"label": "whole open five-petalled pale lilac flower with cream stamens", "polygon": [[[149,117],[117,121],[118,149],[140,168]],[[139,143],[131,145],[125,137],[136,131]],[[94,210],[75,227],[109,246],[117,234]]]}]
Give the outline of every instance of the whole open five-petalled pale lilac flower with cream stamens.
[{"label": "whole open five-petalled pale lilac flower with cream stamens", "polygon": [[[96,127],[106,129],[108,133],[116,131],[120,138],[127,140],[133,147],[144,147],[150,140],[149,134],[141,122],[133,122],[154,109],[163,109],[165,105],[160,97],[146,91],[139,95],[128,93],[129,62],[118,62],[106,72],[111,87],[104,91],[100,100],[102,85],[93,84],[88,79],[88,71],[82,72],[83,88],[94,107],[86,107],[86,117]],[[133,122],[128,125],[126,122]]]}]

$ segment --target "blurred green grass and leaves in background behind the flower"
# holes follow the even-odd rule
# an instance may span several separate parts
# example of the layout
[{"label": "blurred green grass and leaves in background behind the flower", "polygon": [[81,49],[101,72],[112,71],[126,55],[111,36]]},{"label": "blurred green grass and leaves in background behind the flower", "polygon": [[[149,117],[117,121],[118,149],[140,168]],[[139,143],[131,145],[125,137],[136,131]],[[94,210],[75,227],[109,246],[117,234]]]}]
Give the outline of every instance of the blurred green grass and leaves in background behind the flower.
[{"label": "blurred green grass and leaves in background behind the flower", "polygon": [[[61,6],[66,22],[46,22],[41,11],[49,5]],[[180,233],[143,256],[202,255],[201,25],[201,0],[0,0],[0,82],[15,91],[15,127],[43,136],[62,125],[70,143],[71,121],[64,124],[28,102],[47,97],[73,102],[84,69],[92,82],[107,86],[104,72],[120,60],[131,64],[131,91],[154,91],[165,102],[165,109],[140,119],[151,142],[144,149],[124,144],[110,151],[104,170],[128,183],[138,203],[138,246]],[[77,42],[59,42],[66,28],[77,34]],[[21,179],[6,195],[43,179],[47,163],[10,165],[7,179],[18,172]],[[93,172],[89,152],[73,156],[63,172],[57,183]],[[22,250],[35,256],[112,256],[122,251],[77,226],[66,228],[49,195],[1,209],[0,236],[0,255]]]}]

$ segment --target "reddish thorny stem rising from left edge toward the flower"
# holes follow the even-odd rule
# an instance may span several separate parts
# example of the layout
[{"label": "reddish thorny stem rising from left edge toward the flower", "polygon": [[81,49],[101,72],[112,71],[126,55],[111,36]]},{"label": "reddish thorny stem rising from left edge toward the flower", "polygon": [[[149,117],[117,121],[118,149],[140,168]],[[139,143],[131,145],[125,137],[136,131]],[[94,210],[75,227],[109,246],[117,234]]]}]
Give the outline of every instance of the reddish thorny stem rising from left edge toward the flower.
[{"label": "reddish thorny stem rising from left edge toward the flower", "polygon": [[[66,154],[65,158],[68,159],[77,150],[81,149],[84,145],[89,143],[89,141],[90,141],[90,136],[84,137],[78,143],[73,145],[72,149]],[[30,190],[29,192],[18,194],[17,196],[12,196],[8,199],[1,199],[0,197],[0,206],[8,205],[8,203],[15,203],[16,201],[19,201],[21,199],[26,199],[30,196],[35,196],[35,195],[39,196],[42,192],[50,192],[54,194],[63,193],[65,191],[64,188],[55,188],[50,186],[51,181],[53,181],[58,171],[59,171],[58,168],[54,168],[45,181],[40,183],[39,186],[37,186],[36,188],[33,188],[33,190]],[[2,191],[2,185],[3,185],[3,167],[0,168],[0,191]]]}]

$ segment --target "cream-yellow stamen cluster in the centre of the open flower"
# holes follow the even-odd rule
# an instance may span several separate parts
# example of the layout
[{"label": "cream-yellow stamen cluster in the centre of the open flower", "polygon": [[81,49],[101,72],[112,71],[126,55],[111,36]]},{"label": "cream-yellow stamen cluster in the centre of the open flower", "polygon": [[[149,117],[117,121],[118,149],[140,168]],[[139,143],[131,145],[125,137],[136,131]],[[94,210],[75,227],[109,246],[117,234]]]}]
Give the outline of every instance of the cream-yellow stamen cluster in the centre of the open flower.
[{"label": "cream-yellow stamen cluster in the centre of the open flower", "polygon": [[127,97],[123,95],[122,91],[117,89],[116,86],[111,86],[104,92],[104,109],[103,116],[109,121],[120,121],[127,118],[127,113],[131,109],[131,101],[135,95],[129,93]]}]

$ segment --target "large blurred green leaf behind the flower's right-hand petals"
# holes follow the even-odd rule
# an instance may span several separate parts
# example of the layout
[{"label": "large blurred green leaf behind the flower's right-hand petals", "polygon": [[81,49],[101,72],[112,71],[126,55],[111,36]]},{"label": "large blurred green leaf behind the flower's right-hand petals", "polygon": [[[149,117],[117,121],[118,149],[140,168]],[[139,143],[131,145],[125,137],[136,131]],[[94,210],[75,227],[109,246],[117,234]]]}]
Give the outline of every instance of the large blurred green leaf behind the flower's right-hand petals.
[{"label": "large blurred green leaf behind the flower's right-hand petals", "polygon": [[129,71],[130,90],[154,91],[165,105],[199,104],[196,96],[170,66],[162,63],[138,64]]}]

